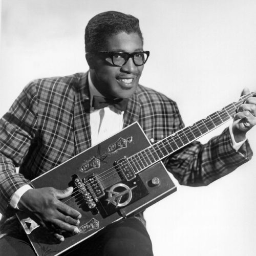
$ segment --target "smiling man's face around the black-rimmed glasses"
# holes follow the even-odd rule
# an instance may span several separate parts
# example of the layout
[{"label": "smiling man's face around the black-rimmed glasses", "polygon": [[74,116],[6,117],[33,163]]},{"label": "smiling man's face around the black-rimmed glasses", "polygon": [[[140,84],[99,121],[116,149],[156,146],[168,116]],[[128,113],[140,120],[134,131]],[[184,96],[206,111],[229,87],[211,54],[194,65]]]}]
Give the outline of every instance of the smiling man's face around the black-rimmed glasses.
[{"label": "smiling man's face around the black-rimmed glasses", "polygon": [[[104,49],[109,52],[142,50],[142,40],[139,35],[125,32],[111,36]],[[132,58],[129,58],[122,67],[115,67],[110,62],[108,58],[95,57],[94,65],[90,70],[94,86],[107,98],[130,98],[138,86],[144,65],[136,66]]]}]

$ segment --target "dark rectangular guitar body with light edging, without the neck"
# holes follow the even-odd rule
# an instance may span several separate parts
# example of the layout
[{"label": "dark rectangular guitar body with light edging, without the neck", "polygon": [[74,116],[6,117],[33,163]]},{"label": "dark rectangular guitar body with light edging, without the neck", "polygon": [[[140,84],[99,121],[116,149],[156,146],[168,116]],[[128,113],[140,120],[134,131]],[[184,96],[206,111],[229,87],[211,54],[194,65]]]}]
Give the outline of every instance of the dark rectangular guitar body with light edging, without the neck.
[{"label": "dark rectangular guitar body with light edging, without the neck", "polygon": [[[73,194],[63,202],[82,215],[79,233],[57,242],[27,214],[19,212],[17,217],[37,255],[59,255],[105,226],[136,215],[176,191],[161,161],[144,169],[137,169],[135,161],[127,161],[150,146],[139,124],[134,123],[34,179],[36,188],[73,186]],[[138,164],[143,166],[143,161]]]}]

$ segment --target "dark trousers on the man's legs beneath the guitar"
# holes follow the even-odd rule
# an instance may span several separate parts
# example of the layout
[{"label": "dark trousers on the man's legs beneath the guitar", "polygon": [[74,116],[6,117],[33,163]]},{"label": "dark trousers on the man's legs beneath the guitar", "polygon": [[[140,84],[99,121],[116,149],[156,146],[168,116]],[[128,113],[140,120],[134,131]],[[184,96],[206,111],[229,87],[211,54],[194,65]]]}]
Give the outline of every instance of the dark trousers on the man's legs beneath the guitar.
[{"label": "dark trousers on the man's legs beneath the guitar", "polygon": [[[35,256],[26,234],[0,239],[0,256]],[[151,239],[144,225],[131,217],[113,223],[80,243],[65,256],[153,256]]]}]

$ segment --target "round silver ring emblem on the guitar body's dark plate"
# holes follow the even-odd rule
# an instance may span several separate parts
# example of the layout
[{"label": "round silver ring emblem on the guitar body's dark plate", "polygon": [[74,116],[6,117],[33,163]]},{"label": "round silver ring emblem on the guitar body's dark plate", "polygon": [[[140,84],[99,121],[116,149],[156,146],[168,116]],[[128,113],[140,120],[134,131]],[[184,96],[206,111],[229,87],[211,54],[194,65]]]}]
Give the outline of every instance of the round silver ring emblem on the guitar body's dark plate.
[{"label": "round silver ring emblem on the guitar body's dark plate", "polygon": [[123,183],[117,183],[107,191],[109,193],[109,198],[106,199],[106,201],[108,201],[108,204],[114,204],[116,208],[125,206],[131,202],[133,197],[132,190],[135,187],[137,186],[130,188]]}]

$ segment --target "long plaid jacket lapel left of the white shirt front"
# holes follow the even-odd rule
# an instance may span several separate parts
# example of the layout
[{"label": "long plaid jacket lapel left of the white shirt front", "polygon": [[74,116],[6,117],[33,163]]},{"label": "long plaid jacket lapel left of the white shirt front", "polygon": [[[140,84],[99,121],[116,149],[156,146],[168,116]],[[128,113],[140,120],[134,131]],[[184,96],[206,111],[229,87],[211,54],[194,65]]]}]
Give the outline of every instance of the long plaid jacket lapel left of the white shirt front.
[{"label": "long plaid jacket lapel left of the white shirt front", "polygon": [[91,146],[90,93],[88,72],[80,76],[74,106],[75,155]]}]

